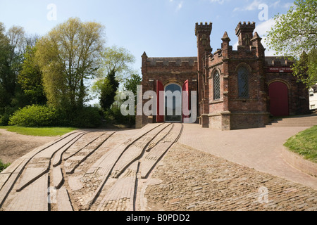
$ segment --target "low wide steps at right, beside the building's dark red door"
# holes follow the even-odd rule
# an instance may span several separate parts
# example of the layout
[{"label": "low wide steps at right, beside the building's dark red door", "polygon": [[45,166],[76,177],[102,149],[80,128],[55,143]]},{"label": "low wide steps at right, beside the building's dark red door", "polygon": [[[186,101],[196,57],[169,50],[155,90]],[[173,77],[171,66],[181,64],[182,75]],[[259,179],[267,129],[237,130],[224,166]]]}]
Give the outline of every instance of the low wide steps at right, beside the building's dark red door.
[{"label": "low wide steps at right, beside the building's dark red door", "polygon": [[317,125],[317,114],[297,115],[272,120],[266,127],[313,127]]}]

